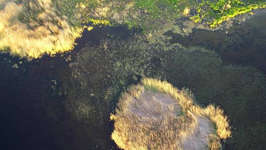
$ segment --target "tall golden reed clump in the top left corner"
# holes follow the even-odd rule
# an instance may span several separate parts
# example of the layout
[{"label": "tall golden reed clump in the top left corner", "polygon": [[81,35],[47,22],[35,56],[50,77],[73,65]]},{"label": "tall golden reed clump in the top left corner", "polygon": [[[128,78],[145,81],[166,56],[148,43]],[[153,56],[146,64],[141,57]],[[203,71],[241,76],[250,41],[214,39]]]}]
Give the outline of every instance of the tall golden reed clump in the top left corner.
[{"label": "tall golden reed clump in the top left corner", "polygon": [[51,0],[0,0],[0,51],[26,58],[73,48],[82,28],[58,15]]}]

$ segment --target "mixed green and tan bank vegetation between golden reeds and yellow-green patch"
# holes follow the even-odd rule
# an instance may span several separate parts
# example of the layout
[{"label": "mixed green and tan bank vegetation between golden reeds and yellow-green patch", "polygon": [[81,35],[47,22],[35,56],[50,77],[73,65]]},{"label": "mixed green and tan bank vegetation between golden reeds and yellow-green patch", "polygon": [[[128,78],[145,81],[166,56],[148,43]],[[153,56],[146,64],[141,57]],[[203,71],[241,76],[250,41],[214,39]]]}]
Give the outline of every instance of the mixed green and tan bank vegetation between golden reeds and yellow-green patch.
[{"label": "mixed green and tan bank vegetation between golden reeds and yellow-green patch", "polygon": [[81,0],[78,10],[83,23],[91,18],[103,19],[148,32],[179,18],[184,10],[189,13],[189,7],[196,3],[197,0]]}]

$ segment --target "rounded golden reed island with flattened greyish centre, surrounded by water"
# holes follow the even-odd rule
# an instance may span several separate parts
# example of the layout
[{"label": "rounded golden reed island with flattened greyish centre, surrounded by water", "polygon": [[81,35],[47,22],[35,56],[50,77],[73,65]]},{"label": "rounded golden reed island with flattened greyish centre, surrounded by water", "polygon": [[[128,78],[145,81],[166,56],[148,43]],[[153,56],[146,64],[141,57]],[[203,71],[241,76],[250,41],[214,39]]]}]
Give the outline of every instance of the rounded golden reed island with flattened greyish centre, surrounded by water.
[{"label": "rounded golden reed island with flattened greyish centre, surrounded by water", "polygon": [[111,138],[123,150],[220,150],[231,136],[220,108],[201,108],[192,93],[158,79],[131,86],[110,118]]}]

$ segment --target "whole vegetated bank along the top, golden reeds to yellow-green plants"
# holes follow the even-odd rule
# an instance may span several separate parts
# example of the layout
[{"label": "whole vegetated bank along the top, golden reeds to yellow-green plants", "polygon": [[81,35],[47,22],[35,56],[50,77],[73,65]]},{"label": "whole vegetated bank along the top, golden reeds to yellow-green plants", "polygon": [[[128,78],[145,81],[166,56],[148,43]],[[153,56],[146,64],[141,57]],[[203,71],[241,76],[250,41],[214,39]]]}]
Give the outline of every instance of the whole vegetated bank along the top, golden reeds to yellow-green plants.
[{"label": "whole vegetated bank along the top, golden reeds to yellow-green plants", "polygon": [[26,58],[73,49],[89,26],[127,25],[154,32],[182,16],[210,27],[266,7],[265,0],[0,0],[0,52]]}]

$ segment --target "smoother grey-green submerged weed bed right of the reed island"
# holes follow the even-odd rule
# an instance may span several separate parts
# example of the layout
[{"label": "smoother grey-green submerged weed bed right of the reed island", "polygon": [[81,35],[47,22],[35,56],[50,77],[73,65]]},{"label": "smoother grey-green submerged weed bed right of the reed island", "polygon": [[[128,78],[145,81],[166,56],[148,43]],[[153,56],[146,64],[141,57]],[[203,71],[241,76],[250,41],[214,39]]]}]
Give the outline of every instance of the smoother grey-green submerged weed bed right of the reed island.
[{"label": "smoother grey-green submerged weed bed right of the reed island", "polygon": [[[220,56],[199,47],[170,49],[161,57],[165,79],[188,87],[200,105],[219,105],[229,116],[232,138],[226,150],[264,150],[266,76],[255,68],[224,66]],[[241,87],[241,88],[239,88]]]}]

